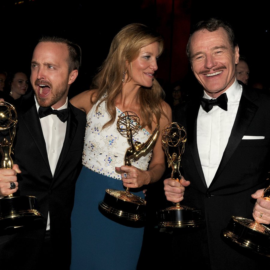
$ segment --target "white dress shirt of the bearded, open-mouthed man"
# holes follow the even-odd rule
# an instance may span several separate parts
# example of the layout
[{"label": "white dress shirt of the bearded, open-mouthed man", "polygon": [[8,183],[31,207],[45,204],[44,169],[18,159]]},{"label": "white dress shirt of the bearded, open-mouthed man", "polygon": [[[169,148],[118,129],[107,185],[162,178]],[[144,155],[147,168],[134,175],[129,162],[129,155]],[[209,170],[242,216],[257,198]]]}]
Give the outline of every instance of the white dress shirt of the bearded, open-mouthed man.
[{"label": "white dress shirt of the bearded, open-mouthed man", "polygon": [[[36,98],[35,101],[38,110],[40,106],[38,105]],[[67,108],[67,100],[66,103],[57,110],[62,110],[66,108]],[[63,147],[67,128],[67,121],[63,123],[55,114],[51,114],[43,118],[40,118],[40,123],[43,136],[46,142],[47,155],[53,176],[58,162],[58,158],[60,156]],[[50,229],[50,218],[48,213],[47,230],[49,229]]]}]

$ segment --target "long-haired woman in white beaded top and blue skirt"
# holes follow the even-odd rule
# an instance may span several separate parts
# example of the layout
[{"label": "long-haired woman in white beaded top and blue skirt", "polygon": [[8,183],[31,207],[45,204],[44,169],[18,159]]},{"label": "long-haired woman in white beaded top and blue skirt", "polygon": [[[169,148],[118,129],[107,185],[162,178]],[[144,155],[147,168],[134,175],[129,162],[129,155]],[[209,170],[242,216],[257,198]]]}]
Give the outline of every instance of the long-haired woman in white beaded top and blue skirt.
[{"label": "long-haired woman in white beaded top and blue skirt", "polygon": [[[132,111],[141,128],[133,141],[144,143],[154,131],[172,121],[164,91],[155,79],[163,38],[147,26],[130,24],[114,37],[109,54],[93,79],[93,90],[82,92],[71,103],[87,114],[82,172],[77,180],[71,217],[70,269],[136,269],[143,228],[114,222],[98,211],[107,188],[126,187],[144,198],[145,185],[158,181],[165,171],[161,132],[152,151],[132,166],[124,165],[127,137],[116,126],[118,116]],[[124,173],[127,177],[124,178]]]}]

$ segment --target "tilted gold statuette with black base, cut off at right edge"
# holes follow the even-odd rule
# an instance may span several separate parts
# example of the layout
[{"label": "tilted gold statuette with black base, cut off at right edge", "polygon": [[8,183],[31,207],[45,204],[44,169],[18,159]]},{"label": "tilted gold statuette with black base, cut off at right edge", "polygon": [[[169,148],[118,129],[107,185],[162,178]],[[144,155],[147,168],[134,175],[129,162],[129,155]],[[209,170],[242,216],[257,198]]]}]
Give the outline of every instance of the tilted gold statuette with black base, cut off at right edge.
[{"label": "tilted gold statuette with black base, cut off at right edge", "polygon": [[[270,199],[270,186],[265,188],[262,197]],[[255,220],[232,216],[227,227],[221,230],[221,237],[246,250],[270,257],[270,229]]]}]

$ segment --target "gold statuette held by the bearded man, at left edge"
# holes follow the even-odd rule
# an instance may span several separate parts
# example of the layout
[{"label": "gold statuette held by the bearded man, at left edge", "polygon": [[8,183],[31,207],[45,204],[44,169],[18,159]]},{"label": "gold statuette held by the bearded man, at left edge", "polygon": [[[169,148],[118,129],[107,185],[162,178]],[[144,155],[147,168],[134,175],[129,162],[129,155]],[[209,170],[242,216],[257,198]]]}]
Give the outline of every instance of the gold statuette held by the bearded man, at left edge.
[{"label": "gold statuette held by the bearded man, at left edge", "polygon": [[[16,124],[17,113],[14,107],[7,102],[1,102],[0,133],[4,134],[1,136],[3,139],[0,142],[2,153],[1,168],[13,168],[10,154],[12,153]],[[34,196],[13,196],[12,193],[0,199],[0,229],[2,230],[12,230],[23,226],[39,224],[43,218],[43,214],[37,210],[37,198]]]}]

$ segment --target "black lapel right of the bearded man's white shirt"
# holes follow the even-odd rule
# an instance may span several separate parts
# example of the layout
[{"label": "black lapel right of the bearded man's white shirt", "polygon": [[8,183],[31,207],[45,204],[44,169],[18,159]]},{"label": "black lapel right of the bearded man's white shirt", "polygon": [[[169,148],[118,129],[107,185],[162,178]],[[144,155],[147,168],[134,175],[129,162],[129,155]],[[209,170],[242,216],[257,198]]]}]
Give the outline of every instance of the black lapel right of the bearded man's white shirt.
[{"label": "black lapel right of the bearded man's white shirt", "polygon": [[59,170],[59,168],[61,167],[61,165],[64,163],[67,153],[70,151],[70,146],[72,144],[72,141],[75,137],[76,134],[76,129],[78,126],[78,121],[76,119],[76,115],[72,109],[72,107],[70,106],[70,103],[68,103],[68,106],[70,107],[70,114],[67,118],[67,129],[66,129],[66,135],[65,135],[65,140],[64,140],[64,144],[62,147],[62,151],[61,154],[59,156],[56,168],[55,168],[55,173],[54,176],[57,174],[57,171]]}]

